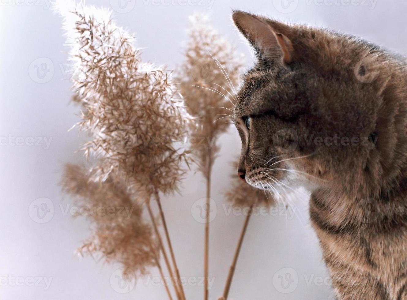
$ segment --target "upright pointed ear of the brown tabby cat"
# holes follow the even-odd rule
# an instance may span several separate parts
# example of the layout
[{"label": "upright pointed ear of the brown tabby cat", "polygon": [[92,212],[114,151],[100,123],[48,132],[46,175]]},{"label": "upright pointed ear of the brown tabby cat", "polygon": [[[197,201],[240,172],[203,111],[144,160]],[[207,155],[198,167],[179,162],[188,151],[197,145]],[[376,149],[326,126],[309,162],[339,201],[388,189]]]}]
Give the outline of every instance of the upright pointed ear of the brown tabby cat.
[{"label": "upright pointed ear of the brown tabby cat", "polygon": [[237,28],[256,50],[260,59],[287,64],[293,58],[293,45],[288,37],[276,31],[261,18],[235,11],[232,19]]}]

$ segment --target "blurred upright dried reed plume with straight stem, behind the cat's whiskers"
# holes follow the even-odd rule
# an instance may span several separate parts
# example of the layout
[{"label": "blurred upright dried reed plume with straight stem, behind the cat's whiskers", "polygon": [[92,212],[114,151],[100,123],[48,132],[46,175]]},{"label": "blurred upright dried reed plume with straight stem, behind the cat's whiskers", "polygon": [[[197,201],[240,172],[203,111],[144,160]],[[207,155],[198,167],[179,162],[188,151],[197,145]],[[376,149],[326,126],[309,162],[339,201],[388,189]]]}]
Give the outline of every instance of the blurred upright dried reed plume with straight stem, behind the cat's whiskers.
[{"label": "blurred upright dried reed plume with straight stem, behind the cat's whiskers", "polygon": [[[208,23],[205,15],[193,15],[188,26],[186,60],[180,66],[177,80],[181,83],[188,112],[195,117],[191,123],[191,143],[199,171],[206,179],[206,226],[204,243],[204,299],[208,299],[209,260],[209,205],[210,183],[214,160],[219,147],[217,138],[228,129],[234,106],[234,94],[239,81],[241,63],[234,54],[234,47],[225,41]],[[200,143],[204,139],[204,143]],[[193,139],[191,139],[193,140]]]}]

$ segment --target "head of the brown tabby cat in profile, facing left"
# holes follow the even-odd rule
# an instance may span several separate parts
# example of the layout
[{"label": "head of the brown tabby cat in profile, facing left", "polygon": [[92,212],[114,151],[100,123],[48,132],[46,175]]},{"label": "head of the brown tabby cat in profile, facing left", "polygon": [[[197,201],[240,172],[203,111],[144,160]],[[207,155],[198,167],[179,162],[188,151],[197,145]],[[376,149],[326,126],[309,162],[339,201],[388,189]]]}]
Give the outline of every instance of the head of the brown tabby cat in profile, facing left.
[{"label": "head of the brown tabby cat in profile, facing left", "polygon": [[278,193],[377,176],[375,157],[386,147],[379,136],[387,122],[380,110],[389,96],[388,55],[324,29],[242,11],[232,18],[257,58],[234,107],[242,141],[238,175]]}]

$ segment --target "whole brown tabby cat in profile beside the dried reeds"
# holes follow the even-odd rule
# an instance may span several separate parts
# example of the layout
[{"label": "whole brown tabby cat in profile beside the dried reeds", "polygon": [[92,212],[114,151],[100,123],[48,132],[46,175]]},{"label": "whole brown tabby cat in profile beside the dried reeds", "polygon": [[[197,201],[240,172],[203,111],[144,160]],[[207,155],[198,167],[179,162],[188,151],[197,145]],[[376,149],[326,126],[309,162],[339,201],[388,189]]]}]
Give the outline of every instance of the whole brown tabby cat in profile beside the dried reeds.
[{"label": "whole brown tabby cat in profile beside the dried reeds", "polygon": [[337,299],[407,299],[407,71],[357,37],[234,11],[255,50],[234,123],[238,175],[311,192]]}]

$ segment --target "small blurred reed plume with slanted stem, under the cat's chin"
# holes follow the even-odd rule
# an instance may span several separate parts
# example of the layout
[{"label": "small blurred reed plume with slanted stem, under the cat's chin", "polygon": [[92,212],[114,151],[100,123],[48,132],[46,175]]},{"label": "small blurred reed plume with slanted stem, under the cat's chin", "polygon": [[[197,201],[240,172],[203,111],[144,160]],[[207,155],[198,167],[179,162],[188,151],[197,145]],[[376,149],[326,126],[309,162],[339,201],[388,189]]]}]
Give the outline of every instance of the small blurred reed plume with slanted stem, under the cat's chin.
[{"label": "small blurred reed plume with slanted stem, under the cat's chin", "polygon": [[228,191],[225,192],[225,198],[227,201],[231,202],[234,206],[247,207],[247,213],[243,227],[239,236],[239,240],[236,245],[236,250],[232,259],[232,264],[229,268],[229,274],[226,278],[225,287],[223,289],[223,295],[219,300],[227,300],[230,290],[230,285],[232,284],[232,279],[234,275],[234,270],[236,268],[237,259],[239,258],[240,249],[243,243],[243,238],[245,237],[247,226],[249,225],[249,220],[252,215],[253,208],[256,206],[273,206],[275,205],[274,197],[271,193],[266,193],[258,188],[247,184],[246,182],[240,180],[236,176],[237,164],[233,163],[234,172],[232,174],[232,184]]}]

